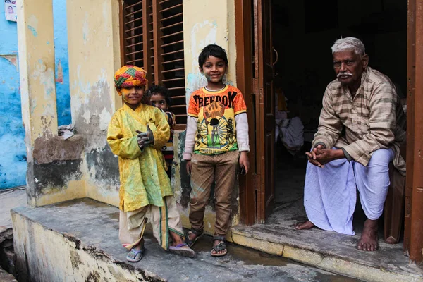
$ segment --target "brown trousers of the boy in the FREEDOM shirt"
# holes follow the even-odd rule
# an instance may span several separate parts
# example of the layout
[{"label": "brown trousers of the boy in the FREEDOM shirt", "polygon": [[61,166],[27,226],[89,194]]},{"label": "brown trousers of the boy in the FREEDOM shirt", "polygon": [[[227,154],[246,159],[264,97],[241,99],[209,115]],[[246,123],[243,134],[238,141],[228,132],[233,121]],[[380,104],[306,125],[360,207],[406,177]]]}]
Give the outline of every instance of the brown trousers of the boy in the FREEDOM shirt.
[{"label": "brown trousers of the boy in the FREEDOM shirt", "polygon": [[216,223],[214,235],[226,235],[231,217],[231,196],[238,172],[240,153],[231,151],[223,154],[192,154],[190,223],[196,231],[204,229],[204,210],[209,201],[210,189],[216,181]]}]

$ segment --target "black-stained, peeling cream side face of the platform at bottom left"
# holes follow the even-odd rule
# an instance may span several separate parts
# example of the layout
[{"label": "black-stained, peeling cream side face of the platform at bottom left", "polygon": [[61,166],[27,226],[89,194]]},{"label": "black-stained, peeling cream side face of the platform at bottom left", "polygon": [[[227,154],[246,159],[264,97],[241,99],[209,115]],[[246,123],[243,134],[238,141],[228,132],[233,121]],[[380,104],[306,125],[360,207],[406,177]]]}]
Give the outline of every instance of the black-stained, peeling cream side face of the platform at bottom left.
[{"label": "black-stained, peeling cream side face of the platform at bottom left", "polygon": [[85,245],[69,233],[58,233],[12,210],[16,268],[19,281],[165,281]]}]

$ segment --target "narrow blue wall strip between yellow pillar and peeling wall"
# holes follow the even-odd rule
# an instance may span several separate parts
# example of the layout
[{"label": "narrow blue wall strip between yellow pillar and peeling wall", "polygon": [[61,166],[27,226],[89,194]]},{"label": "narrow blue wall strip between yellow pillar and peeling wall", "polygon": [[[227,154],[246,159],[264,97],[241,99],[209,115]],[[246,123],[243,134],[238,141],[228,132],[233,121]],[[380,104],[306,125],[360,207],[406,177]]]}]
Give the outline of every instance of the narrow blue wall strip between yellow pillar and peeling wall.
[{"label": "narrow blue wall strip between yellow pillar and peeling wall", "polygon": [[[56,99],[59,125],[72,123],[69,92],[68,25],[66,0],[53,0],[54,53],[56,56]],[[62,73],[61,73],[62,70]],[[62,81],[59,81],[63,77]]]}]

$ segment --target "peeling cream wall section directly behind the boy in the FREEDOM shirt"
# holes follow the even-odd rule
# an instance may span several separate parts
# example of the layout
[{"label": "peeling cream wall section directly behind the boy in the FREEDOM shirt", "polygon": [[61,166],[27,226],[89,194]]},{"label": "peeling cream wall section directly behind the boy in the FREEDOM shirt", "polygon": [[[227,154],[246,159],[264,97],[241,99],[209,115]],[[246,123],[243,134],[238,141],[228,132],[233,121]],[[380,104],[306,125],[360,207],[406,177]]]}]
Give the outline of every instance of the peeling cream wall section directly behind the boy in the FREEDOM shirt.
[{"label": "peeling cream wall section directly behind the boy in the FREEDOM shirt", "polygon": [[[207,13],[198,13],[207,11]],[[207,85],[207,80],[200,74],[198,55],[208,44],[218,44],[228,54],[229,69],[225,82],[235,85],[235,1],[183,1],[183,30],[184,30],[184,55],[185,55],[185,89],[187,104],[190,95],[195,90]],[[180,208],[183,226],[190,227],[188,219],[190,202],[190,176],[183,161],[185,149],[185,131],[178,131],[173,137],[173,147],[178,148],[173,159],[173,187],[175,189],[176,202]],[[238,182],[232,196],[232,224],[238,223]],[[214,188],[209,197],[209,204],[204,214],[204,229],[207,233],[214,233]]]}]

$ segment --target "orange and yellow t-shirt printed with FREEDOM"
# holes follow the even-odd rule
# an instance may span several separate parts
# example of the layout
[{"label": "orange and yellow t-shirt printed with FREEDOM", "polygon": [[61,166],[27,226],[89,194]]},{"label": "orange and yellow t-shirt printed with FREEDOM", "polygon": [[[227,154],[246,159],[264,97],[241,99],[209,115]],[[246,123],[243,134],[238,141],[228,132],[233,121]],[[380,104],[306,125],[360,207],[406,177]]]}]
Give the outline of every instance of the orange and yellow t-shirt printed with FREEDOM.
[{"label": "orange and yellow t-shirt printed with FREEDOM", "polygon": [[193,92],[188,116],[197,118],[194,152],[221,154],[238,150],[235,116],[246,111],[243,94],[233,86],[218,91],[203,87]]}]

